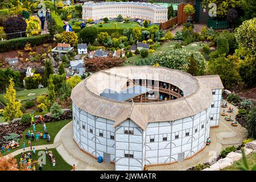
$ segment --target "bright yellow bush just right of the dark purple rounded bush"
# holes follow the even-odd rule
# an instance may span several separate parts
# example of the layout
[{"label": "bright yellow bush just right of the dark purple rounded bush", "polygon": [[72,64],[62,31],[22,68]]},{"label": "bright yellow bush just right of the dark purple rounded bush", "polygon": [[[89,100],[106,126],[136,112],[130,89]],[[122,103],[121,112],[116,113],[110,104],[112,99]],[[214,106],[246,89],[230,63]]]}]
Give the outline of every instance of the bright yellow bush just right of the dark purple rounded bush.
[{"label": "bright yellow bush just right of the dark purple rounded bush", "polygon": [[41,33],[40,20],[35,16],[31,16],[30,19],[26,19],[28,36],[34,36]]}]

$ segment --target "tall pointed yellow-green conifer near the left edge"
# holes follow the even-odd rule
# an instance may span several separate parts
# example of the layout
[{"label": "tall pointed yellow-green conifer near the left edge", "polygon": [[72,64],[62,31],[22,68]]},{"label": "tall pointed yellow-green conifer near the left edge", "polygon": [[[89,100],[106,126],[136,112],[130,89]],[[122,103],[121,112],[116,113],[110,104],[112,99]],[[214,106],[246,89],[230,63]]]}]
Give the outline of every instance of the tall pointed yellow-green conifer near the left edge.
[{"label": "tall pointed yellow-green conifer near the left edge", "polygon": [[11,121],[22,116],[20,101],[16,101],[16,90],[14,89],[13,78],[10,78],[9,87],[6,89],[6,94],[3,96],[7,100],[7,106],[3,110],[5,121]]}]

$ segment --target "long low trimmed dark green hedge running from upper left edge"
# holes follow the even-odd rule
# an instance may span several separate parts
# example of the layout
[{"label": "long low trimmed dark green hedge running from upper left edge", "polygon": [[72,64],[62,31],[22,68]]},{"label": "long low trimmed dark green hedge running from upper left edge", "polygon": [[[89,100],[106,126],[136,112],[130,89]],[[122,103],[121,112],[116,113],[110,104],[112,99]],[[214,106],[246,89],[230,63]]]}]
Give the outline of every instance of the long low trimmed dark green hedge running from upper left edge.
[{"label": "long low trimmed dark green hedge running from upper left edge", "polygon": [[0,41],[0,52],[9,52],[16,49],[23,49],[26,43],[30,43],[31,47],[39,46],[44,43],[51,41],[49,35],[38,35],[38,36],[29,36],[26,38],[16,38],[10,40]]}]

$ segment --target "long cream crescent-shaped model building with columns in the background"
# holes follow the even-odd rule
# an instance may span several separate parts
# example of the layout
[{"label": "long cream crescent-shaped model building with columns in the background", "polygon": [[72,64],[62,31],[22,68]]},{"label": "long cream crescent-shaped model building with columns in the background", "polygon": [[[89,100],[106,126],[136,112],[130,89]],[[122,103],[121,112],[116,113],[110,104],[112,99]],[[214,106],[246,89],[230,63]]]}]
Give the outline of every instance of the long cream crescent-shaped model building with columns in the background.
[{"label": "long cream crescent-shaped model building with columns in the background", "polygon": [[152,23],[166,22],[168,10],[162,5],[139,2],[85,2],[82,6],[82,18],[98,20],[102,18],[117,18],[121,14],[123,18],[148,19]]}]

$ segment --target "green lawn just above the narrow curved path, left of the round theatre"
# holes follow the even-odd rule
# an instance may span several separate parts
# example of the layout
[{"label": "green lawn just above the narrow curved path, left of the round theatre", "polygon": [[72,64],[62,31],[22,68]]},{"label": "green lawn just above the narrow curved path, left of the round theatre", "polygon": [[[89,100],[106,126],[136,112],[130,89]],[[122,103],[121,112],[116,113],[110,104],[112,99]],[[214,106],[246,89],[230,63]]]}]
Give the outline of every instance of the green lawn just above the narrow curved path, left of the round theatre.
[{"label": "green lawn just above the narrow curved path, left of the round theatre", "polygon": [[[67,125],[67,123],[71,122],[71,120],[72,119],[67,119],[67,120],[61,120],[61,121],[55,121],[55,122],[46,123],[47,132],[49,133],[49,135],[51,137],[51,141],[47,142],[45,139],[39,139],[38,141],[34,140],[34,142],[32,142],[32,146],[40,146],[40,145],[44,145],[44,144],[52,144],[54,142],[55,136],[60,131],[60,129],[62,129],[65,125]],[[32,126],[29,127],[28,129],[26,129],[23,132],[23,134],[22,134],[23,139],[19,141],[19,147],[14,148],[14,149],[10,149],[10,152],[14,152],[14,151],[19,150],[20,148],[22,148],[23,142],[25,142],[25,146],[26,147],[29,147],[28,141],[26,139],[26,134],[28,133],[28,130],[30,130],[30,133],[31,133],[31,131],[33,130]],[[44,133],[43,124],[36,125],[36,131],[34,132],[34,134],[37,133],[37,132],[43,132]],[[6,155],[6,153],[7,152],[5,152],[4,155]]]}]

